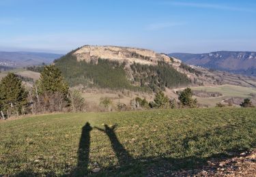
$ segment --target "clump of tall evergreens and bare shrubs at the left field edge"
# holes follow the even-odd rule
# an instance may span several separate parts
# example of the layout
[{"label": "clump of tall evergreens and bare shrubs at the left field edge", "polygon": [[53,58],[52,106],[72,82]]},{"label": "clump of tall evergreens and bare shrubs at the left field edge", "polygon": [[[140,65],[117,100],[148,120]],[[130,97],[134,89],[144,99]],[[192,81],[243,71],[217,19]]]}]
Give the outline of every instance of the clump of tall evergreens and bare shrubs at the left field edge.
[{"label": "clump of tall evergreens and bare shrubs at the left field edge", "polygon": [[9,73],[0,82],[0,110],[3,118],[20,114],[84,111],[81,93],[69,88],[55,65],[44,66],[40,79],[25,88],[20,76]]}]

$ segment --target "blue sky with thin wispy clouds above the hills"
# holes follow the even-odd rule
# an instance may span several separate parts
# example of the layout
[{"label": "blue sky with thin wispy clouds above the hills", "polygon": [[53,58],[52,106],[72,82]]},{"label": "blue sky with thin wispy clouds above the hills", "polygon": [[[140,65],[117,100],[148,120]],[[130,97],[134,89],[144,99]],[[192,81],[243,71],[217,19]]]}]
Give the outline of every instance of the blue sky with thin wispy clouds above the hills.
[{"label": "blue sky with thin wispy clouds above the hills", "polygon": [[0,50],[256,51],[255,0],[0,0]]}]

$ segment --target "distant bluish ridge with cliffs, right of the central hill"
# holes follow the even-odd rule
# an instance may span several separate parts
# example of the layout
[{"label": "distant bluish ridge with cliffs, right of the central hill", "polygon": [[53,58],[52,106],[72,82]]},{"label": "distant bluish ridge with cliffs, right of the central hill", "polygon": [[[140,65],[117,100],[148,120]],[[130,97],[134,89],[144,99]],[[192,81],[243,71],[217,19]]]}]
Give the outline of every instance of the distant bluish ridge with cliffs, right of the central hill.
[{"label": "distant bluish ridge with cliffs, right of the central hill", "polygon": [[188,65],[256,76],[256,52],[171,53],[169,56],[177,57]]}]

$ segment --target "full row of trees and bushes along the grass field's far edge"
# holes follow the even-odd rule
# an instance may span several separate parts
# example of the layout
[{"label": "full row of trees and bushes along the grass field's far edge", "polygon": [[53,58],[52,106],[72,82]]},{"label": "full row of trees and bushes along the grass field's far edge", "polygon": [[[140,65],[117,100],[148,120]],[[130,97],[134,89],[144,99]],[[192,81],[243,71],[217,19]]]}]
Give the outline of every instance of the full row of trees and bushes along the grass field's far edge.
[{"label": "full row of trees and bushes along the grass field's far edge", "polygon": [[[116,65],[118,65],[116,63]],[[104,97],[100,99],[100,111],[111,111],[113,101]],[[162,91],[157,91],[154,101],[137,97],[131,101],[131,109],[149,108],[196,108],[197,99],[193,99],[191,88],[179,93],[178,101],[169,99]],[[253,107],[250,99],[240,104],[243,108]],[[223,107],[218,103],[216,107]],[[85,112],[87,104],[81,92],[71,89],[55,65],[44,66],[40,79],[32,87],[25,87],[20,76],[9,73],[0,82],[0,111],[2,118],[20,114],[38,114],[45,112]],[[127,110],[123,103],[117,103],[117,110]]]}]

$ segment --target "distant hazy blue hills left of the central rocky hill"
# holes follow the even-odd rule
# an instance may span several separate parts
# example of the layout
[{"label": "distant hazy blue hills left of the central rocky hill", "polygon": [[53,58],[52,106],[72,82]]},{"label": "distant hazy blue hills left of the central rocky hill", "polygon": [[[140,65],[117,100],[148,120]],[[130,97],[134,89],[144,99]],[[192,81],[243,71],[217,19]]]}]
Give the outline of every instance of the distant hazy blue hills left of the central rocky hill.
[{"label": "distant hazy blue hills left of the central rocky hill", "polygon": [[45,52],[0,52],[0,66],[27,67],[42,65],[42,63],[49,64],[61,56],[61,54]]}]

